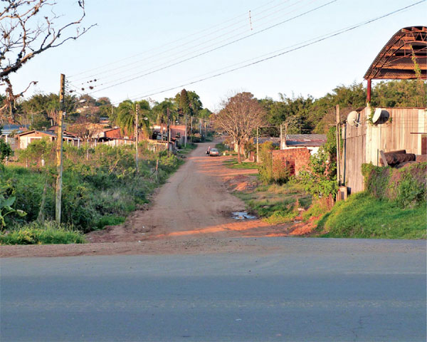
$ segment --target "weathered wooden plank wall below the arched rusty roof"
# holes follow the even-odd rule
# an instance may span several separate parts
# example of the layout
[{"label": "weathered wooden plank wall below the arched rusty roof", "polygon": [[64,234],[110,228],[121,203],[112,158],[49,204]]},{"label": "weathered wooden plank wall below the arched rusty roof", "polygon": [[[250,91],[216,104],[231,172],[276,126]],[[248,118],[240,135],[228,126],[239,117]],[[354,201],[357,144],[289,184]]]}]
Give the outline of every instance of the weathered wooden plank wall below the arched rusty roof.
[{"label": "weathered wooden plank wall below the arched rusty roof", "polygon": [[[374,108],[375,109],[375,108]],[[382,108],[389,112],[391,120],[372,125],[367,118],[370,108],[360,113],[360,124],[344,125],[344,149],[342,175],[351,193],[364,190],[362,164],[379,165],[379,151],[406,150],[421,155],[421,134],[427,132],[427,111],[418,108]]]}]

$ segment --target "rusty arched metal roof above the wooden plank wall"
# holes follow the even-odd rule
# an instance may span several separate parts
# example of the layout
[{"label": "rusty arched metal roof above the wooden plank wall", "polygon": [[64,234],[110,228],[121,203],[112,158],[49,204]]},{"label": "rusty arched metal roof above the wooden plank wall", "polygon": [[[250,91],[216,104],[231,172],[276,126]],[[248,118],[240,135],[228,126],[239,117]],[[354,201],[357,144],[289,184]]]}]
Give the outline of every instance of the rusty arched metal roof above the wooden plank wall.
[{"label": "rusty arched metal roof above the wooden plank wall", "polygon": [[421,76],[427,71],[427,27],[411,26],[401,28],[382,48],[374,59],[364,79],[414,79],[415,66],[412,58],[421,68]]}]

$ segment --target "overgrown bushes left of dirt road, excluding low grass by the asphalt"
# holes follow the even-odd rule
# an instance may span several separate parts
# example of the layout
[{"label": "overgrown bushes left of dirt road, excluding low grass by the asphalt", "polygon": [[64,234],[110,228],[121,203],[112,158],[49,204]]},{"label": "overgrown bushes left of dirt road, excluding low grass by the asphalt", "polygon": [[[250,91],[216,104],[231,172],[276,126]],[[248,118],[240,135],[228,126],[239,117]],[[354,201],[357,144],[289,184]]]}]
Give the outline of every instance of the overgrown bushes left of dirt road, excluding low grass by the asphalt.
[{"label": "overgrown bushes left of dirt road, excluding low grass by the asphalt", "polygon": [[[114,222],[121,222],[122,217],[135,210],[137,205],[146,203],[147,195],[152,193],[159,183],[165,182],[182,163],[174,155],[152,152],[147,149],[147,145],[140,145],[139,173],[135,170],[135,149],[132,146],[98,145],[86,151],[85,148],[65,145],[63,222],[73,224],[73,227],[81,232],[90,232]],[[40,145],[33,149],[37,150],[36,147]],[[189,150],[191,148],[194,147],[188,147]],[[155,175],[157,159],[159,170]],[[24,219],[26,222],[37,219],[46,179],[43,214],[47,219],[53,218],[56,185],[48,168],[39,170],[10,166],[5,168],[3,175],[4,182],[8,184],[7,195],[16,197],[15,207],[28,213],[24,218],[11,215],[6,217],[8,227],[9,224],[22,224]]]}]

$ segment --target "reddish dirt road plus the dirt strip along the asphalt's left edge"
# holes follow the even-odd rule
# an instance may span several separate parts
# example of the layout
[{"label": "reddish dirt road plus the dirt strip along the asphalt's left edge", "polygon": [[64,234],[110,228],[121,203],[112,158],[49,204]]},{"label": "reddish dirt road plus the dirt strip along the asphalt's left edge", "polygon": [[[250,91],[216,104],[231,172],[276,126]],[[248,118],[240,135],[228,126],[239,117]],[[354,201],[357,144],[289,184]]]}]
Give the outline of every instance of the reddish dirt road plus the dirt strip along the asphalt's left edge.
[{"label": "reddish dirt road plus the dirt strip along the asphalt's left edge", "polygon": [[[2,246],[3,257],[68,256],[82,254],[174,253],[234,249],[246,244],[229,238],[287,234],[288,227],[270,226],[260,219],[236,220],[231,212],[245,204],[231,195],[231,180],[244,180],[257,170],[230,169],[227,157],[209,157],[213,143],[199,144],[154,196],[147,210],[137,210],[125,224],[87,235],[90,244]],[[199,248],[200,247],[200,248]]]}]

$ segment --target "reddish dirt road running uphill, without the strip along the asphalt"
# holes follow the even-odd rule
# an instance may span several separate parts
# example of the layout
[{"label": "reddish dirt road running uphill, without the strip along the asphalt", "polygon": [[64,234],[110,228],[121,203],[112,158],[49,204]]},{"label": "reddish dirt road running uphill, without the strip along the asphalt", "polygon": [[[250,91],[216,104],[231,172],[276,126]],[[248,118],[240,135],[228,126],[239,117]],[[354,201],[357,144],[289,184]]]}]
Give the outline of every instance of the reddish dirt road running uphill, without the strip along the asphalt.
[{"label": "reddish dirt road running uphill, without the strip along the asphalt", "polygon": [[[231,212],[245,209],[245,204],[231,195],[227,180],[256,170],[233,170],[223,166],[226,157],[209,157],[212,143],[199,144],[186,163],[169,178],[154,197],[149,210],[139,210],[120,227],[88,234],[91,242],[125,242],[194,234],[230,236],[239,222]],[[255,222],[245,222],[243,225]],[[262,224],[261,222],[256,223]],[[241,222],[240,222],[240,225]],[[233,234],[235,236],[236,234]]]}]

